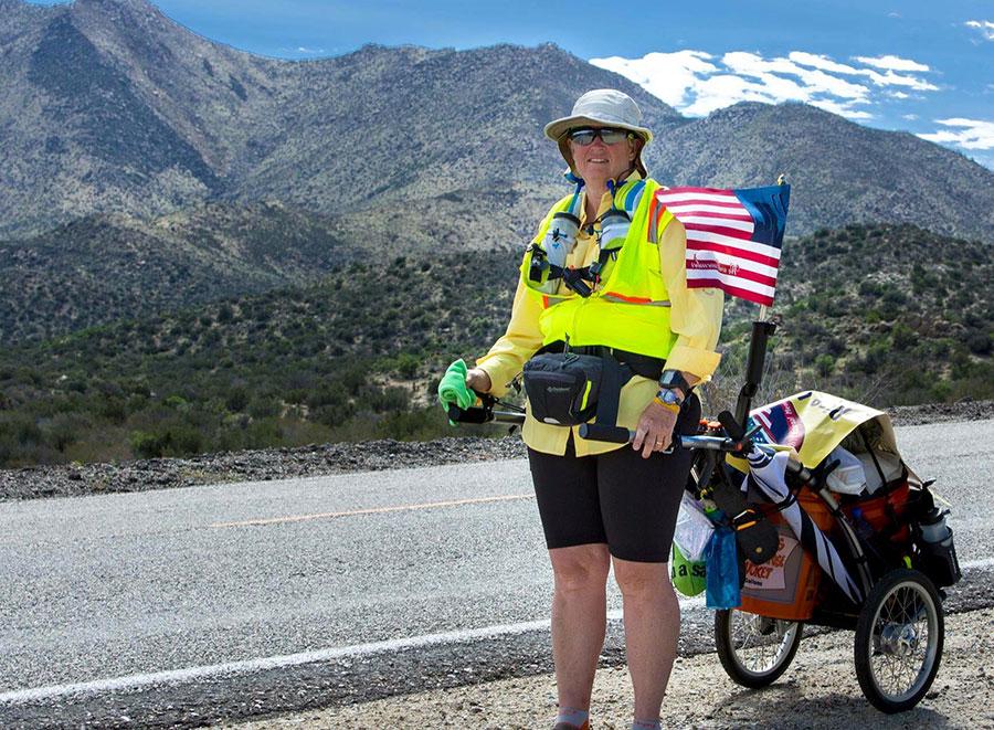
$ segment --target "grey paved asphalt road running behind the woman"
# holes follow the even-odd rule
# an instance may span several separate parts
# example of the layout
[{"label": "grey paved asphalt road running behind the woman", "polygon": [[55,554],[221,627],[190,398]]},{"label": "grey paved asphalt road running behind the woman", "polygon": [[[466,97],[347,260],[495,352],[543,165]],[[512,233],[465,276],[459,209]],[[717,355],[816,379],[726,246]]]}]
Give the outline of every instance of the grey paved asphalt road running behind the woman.
[{"label": "grey paved asphalt road running behind the woman", "polygon": [[[994,603],[992,440],[994,421],[898,430],[955,506],[953,610]],[[0,554],[3,727],[193,724],[548,669],[521,461],[0,505]],[[687,603],[685,652],[709,621]]]}]

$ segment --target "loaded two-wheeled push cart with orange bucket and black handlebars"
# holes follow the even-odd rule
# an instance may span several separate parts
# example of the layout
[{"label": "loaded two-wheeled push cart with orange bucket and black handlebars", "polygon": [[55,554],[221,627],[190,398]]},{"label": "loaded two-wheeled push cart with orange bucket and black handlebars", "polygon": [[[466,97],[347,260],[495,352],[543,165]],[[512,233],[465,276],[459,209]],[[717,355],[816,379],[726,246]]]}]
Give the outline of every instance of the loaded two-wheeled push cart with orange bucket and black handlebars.
[{"label": "loaded two-wheeled push cart with orange bucket and black handlebars", "polygon": [[[856,423],[846,431],[850,440],[861,438],[871,446],[869,438],[880,436],[874,434],[884,415],[878,411],[860,411],[858,404],[813,391],[793,399],[807,401],[812,413],[821,411],[827,421],[843,424],[827,440],[824,423],[815,424],[813,432],[821,430],[823,442],[815,454],[821,454],[833,437],[846,431],[846,423]],[[797,411],[791,402],[792,399],[785,399],[780,405]],[[482,403],[482,408],[467,411],[453,408],[450,417],[464,423],[524,421],[519,409],[497,410],[506,404],[485,395]],[[739,406],[744,410],[741,401]],[[766,425],[775,425],[771,414],[776,406],[763,406],[753,414],[763,421],[766,413]],[[839,409],[849,410],[840,413]],[[803,427],[804,413],[794,415],[797,417],[793,426]],[[623,435],[632,436],[625,430],[613,429],[607,433],[598,432],[592,425],[581,426],[580,432],[582,437],[599,440],[622,441]],[[892,431],[888,429],[889,422],[884,424],[884,442],[892,445]],[[790,441],[791,429],[782,431],[782,440]],[[866,698],[884,712],[914,707],[928,692],[942,658],[944,593],[941,589],[960,578],[952,532],[944,526],[944,515],[935,508],[929,485],[900,462],[899,474],[886,482],[881,479],[873,496],[840,498],[826,487],[827,476],[837,466],[832,459],[818,459],[817,465],[808,467],[796,455],[780,457],[784,466],[785,497],[774,500],[769,495],[760,496],[740,469],[750,472],[748,466],[742,466],[743,457],[750,453],[771,458],[775,435],[776,429],[763,425],[745,433],[736,416],[726,412],[716,423],[702,422],[698,435],[674,437],[673,447],[695,452],[688,493],[695,498],[722,495],[726,523],[739,538],[740,574],[747,581],[742,601],[738,607],[715,614],[715,641],[722,667],[744,687],[765,687],[786,671],[801,644],[805,624],[855,631],[856,676]],[[818,438],[811,441],[816,442]],[[804,454],[802,447],[801,455]],[[732,466],[736,463],[739,469]],[[807,538],[818,532],[825,542],[804,544],[799,539],[804,536],[793,533],[785,509],[796,509],[804,516],[800,532]],[[937,525],[944,530],[938,530],[938,540],[933,539]],[[760,563],[748,560],[752,553],[747,554],[743,544],[769,542],[771,535],[773,544],[765,549],[764,560]],[[826,543],[831,544],[826,548]],[[819,564],[823,556],[818,554],[826,549],[837,554],[836,562],[827,565],[827,572]],[[770,571],[753,570],[768,563],[772,563]],[[763,586],[762,582],[758,585],[748,582],[752,572],[774,571],[779,571],[782,584],[771,588]],[[848,574],[848,592],[836,583],[837,573],[843,571]],[[832,580],[827,580],[829,572]]]}]

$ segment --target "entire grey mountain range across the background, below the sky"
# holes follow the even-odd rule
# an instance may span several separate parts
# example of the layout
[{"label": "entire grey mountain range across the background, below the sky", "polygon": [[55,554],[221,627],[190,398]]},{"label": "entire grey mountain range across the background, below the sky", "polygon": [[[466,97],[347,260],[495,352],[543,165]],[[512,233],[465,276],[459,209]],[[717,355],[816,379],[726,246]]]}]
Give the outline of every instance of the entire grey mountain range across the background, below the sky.
[{"label": "entire grey mountain range across the background, below the sky", "polygon": [[95,213],[279,201],[352,216],[374,250],[429,228],[435,245],[474,245],[474,216],[488,237],[520,240],[564,191],[542,125],[614,86],[656,131],[646,158],[663,182],[783,172],[794,234],[886,221],[994,241],[994,172],[956,152],[799,104],[688,119],[548,44],[288,62],[213,43],[146,0],[0,0],[0,237]]}]

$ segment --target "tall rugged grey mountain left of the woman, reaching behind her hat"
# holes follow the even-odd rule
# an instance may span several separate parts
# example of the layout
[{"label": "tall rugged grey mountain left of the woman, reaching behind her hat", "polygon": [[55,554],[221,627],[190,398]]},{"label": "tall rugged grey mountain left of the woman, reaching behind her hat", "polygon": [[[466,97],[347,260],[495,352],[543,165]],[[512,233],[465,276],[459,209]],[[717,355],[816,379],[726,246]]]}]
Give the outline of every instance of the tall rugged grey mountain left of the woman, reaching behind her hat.
[{"label": "tall rugged grey mountain left of the woman, reaching behind her hat", "polygon": [[556,150],[536,131],[596,86],[623,86],[657,128],[680,121],[551,45],[292,63],[211,43],[145,0],[0,9],[0,233],[19,236],[215,198],[338,214],[556,184]]}]

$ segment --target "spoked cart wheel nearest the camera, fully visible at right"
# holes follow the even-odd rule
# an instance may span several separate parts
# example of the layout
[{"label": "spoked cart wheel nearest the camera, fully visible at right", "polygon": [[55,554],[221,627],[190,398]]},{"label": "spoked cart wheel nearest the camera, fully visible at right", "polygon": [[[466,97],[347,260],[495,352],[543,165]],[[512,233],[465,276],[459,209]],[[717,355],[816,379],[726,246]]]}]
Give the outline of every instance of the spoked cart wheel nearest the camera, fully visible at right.
[{"label": "spoked cart wheel nearest the camera, fully visible at right", "polygon": [[945,626],[935,585],[917,570],[893,570],[874,585],[856,623],[856,676],[878,710],[902,712],[932,686]]}]

